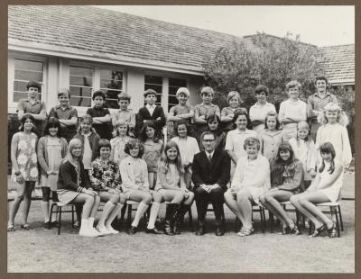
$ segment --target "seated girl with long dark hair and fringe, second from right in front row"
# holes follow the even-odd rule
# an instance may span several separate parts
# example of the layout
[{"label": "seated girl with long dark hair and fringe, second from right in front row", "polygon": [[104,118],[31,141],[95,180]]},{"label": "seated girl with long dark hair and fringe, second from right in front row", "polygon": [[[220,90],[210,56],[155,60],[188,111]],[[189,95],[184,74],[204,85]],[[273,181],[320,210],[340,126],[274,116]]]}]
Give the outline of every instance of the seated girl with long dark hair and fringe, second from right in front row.
[{"label": "seated girl with long dark hair and fringe, second from right in front row", "polygon": [[290,201],[294,193],[299,193],[303,183],[303,166],[301,161],[294,157],[290,143],[282,141],[270,167],[271,189],[261,195],[260,201],[282,221],[282,234],[287,234],[288,229],[293,234],[300,234],[297,225],[280,204]]}]

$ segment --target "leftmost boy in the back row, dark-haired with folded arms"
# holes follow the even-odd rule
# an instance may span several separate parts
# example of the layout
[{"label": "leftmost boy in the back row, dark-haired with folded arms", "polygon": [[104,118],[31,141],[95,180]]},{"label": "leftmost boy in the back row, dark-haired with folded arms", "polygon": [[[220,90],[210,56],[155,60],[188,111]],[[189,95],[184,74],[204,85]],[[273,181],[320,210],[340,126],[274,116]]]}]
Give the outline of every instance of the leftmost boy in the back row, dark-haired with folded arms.
[{"label": "leftmost boy in the back row, dark-haired with folded arms", "polygon": [[17,103],[17,116],[19,120],[21,120],[25,113],[32,114],[32,117],[35,119],[34,125],[40,138],[42,137],[44,122],[46,120],[45,103],[38,98],[38,95],[42,91],[42,85],[37,81],[30,80],[26,88],[28,90],[28,97],[27,99],[21,99],[19,103]]}]

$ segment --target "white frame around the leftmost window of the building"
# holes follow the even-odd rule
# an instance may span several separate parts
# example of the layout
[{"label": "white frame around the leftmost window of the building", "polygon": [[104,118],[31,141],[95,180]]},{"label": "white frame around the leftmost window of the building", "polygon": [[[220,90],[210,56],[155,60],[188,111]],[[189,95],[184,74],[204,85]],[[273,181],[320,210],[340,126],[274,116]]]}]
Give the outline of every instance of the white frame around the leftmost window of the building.
[{"label": "white frame around the leftmost window of the building", "polygon": [[14,102],[15,59],[42,62],[42,101],[48,103],[48,58],[30,53],[9,52],[7,63],[7,112],[16,113],[18,104],[18,102]]}]

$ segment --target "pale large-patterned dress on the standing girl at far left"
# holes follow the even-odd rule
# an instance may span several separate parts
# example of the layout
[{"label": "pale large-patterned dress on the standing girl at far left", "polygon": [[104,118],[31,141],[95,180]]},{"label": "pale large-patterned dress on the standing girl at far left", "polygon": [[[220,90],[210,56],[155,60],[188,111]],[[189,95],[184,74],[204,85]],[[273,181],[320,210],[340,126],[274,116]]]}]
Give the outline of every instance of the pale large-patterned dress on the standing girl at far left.
[{"label": "pale large-patterned dress on the standing girl at far left", "polygon": [[[38,137],[19,131],[14,134],[12,146],[16,147],[16,162],[24,181],[38,181],[38,157],[36,156],[36,142]],[[12,170],[12,181],[16,182],[15,170]]]}]

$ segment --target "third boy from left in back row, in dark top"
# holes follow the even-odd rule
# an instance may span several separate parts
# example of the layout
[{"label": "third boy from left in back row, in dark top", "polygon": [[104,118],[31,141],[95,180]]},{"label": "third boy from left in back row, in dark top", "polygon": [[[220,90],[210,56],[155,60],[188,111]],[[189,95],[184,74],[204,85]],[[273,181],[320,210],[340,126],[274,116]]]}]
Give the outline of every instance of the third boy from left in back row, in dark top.
[{"label": "third boy from left in back row, in dark top", "polygon": [[101,90],[97,90],[93,94],[94,107],[88,108],[87,114],[93,118],[93,128],[101,139],[111,139],[110,112],[104,106],[106,102],[106,94]]}]

